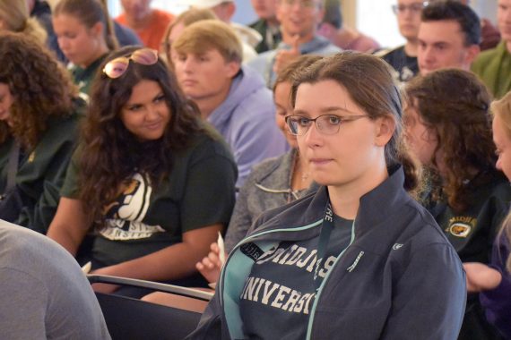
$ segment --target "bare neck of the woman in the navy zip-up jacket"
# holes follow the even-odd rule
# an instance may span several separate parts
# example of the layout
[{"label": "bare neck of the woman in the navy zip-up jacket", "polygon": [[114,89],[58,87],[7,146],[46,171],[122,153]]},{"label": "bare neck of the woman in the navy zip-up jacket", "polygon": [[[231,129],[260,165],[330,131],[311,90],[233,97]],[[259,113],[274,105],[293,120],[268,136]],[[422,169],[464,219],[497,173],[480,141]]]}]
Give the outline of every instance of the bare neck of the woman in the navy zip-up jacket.
[{"label": "bare neck of the woman in the navy zip-up jacket", "polygon": [[[383,166],[383,168],[382,168]],[[377,166],[377,171],[362,175],[361,181],[352,181],[342,185],[329,185],[328,195],[335,215],[355,219],[359,211],[360,198],[383,183],[388,177],[385,161]]]}]

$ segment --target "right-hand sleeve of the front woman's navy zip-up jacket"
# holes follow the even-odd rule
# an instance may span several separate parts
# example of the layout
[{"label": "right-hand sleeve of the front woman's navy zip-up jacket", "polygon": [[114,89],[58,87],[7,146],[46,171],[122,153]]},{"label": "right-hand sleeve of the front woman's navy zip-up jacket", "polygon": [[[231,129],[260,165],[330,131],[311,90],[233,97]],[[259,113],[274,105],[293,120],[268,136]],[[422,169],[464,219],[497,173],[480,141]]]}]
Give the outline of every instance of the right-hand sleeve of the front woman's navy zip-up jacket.
[{"label": "right-hand sleeve of the front woman's navy zip-up jacket", "polygon": [[381,339],[457,338],[466,284],[461,261],[449,244],[433,243],[413,252],[393,292]]}]

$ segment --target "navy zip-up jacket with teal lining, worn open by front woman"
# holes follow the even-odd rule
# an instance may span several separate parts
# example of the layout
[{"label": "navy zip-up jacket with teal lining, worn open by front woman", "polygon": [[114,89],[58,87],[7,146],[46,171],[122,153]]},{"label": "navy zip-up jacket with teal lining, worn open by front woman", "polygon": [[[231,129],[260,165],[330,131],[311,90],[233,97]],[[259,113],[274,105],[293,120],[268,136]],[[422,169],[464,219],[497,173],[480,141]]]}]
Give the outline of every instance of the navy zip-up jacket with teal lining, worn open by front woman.
[{"label": "navy zip-up jacket with teal lining, worn open by front woman", "polygon": [[[316,293],[307,339],[456,339],[466,300],[462,263],[429,212],[403,190],[403,181],[400,166],[360,199],[351,243]],[[254,259],[241,248],[268,251],[281,241],[317,236],[327,200],[321,187],[263,214],[230,253],[189,338],[246,338],[238,302]],[[293,325],[276,320],[268,327]]]}]

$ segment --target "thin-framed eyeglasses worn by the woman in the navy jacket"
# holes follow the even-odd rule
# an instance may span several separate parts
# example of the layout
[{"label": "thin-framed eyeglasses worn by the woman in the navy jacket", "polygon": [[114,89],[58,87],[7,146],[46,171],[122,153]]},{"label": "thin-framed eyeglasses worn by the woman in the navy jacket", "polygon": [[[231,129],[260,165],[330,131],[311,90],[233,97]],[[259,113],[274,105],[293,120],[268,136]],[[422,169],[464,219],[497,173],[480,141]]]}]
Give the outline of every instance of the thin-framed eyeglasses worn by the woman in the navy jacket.
[{"label": "thin-framed eyeglasses worn by the woman in the navy jacket", "polygon": [[304,135],[308,131],[310,125],[312,125],[312,122],[316,123],[317,131],[323,134],[335,134],[339,132],[341,123],[351,122],[367,116],[368,115],[349,115],[342,117],[339,115],[320,115],[311,119],[302,115],[288,115],[286,117],[286,124],[290,129],[290,133],[295,136]]}]

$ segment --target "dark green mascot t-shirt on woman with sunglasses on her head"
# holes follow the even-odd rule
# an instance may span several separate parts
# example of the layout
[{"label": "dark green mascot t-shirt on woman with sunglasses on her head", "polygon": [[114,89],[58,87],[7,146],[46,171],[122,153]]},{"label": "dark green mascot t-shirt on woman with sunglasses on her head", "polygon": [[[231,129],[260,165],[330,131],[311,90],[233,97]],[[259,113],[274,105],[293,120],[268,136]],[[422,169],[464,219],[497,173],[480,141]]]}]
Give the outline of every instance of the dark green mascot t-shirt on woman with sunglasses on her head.
[{"label": "dark green mascot t-shirt on woman with sunglasses on her head", "polygon": [[[174,155],[169,175],[157,186],[134,174],[122,194],[105,208],[92,258],[110,266],[181,242],[182,234],[204,226],[227,225],[235,201],[237,166],[227,144],[207,128]],[[68,168],[61,195],[76,198],[77,159]]]}]

